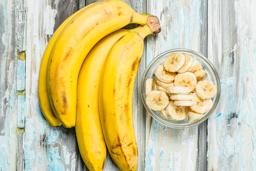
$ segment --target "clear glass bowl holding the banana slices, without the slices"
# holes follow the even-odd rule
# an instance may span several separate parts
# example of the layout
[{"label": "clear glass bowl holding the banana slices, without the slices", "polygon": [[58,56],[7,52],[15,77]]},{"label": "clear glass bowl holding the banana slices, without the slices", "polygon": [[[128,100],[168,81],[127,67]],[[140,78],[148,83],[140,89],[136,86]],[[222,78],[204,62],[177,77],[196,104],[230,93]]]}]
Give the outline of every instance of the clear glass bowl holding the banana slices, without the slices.
[{"label": "clear glass bowl holding the banana slices, without the slices", "polygon": [[[203,69],[206,71],[208,77],[207,79],[214,82],[216,88],[217,88],[217,93],[214,96],[214,98],[212,98],[212,108],[207,111],[204,116],[195,121],[195,122],[188,122],[188,117],[185,118],[184,120],[180,120],[180,121],[175,121],[175,120],[170,120],[170,119],[166,119],[164,118],[159,111],[154,111],[151,110],[147,104],[146,104],[146,95],[145,95],[145,83],[146,83],[146,79],[148,78],[154,78],[154,71],[155,68],[157,68],[158,65],[160,65],[161,63],[163,63],[163,61],[166,59],[166,57],[168,55],[170,55],[171,53],[188,53],[193,59],[199,60],[200,63],[203,66]],[[159,123],[167,126],[167,127],[172,127],[172,128],[189,128],[189,127],[193,127],[196,126],[202,122],[204,122],[207,118],[209,118],[209,116],[212,114],[212,112],[215,110],[215,108],[217,107],[217,104],[219,102],[219,97],[221,94],[221,84],[219,81],[219,75],[215,69],[215,67],[213,66],[213,64],[203,55],[201,55],[200,53],[197,53],[195,51],[189,50],[189,49],[172,49],[166,52],[163,52],[161,54],[159,54],[157,57],[155,57],[146,67],[143,76],[142,76],[142,81],[140,83],[140,93],[142,96],[142,102],[144,104],[144,107],[146,108],[146,110],[150,113],[150,115],[157,120]]]}]

